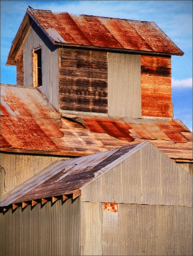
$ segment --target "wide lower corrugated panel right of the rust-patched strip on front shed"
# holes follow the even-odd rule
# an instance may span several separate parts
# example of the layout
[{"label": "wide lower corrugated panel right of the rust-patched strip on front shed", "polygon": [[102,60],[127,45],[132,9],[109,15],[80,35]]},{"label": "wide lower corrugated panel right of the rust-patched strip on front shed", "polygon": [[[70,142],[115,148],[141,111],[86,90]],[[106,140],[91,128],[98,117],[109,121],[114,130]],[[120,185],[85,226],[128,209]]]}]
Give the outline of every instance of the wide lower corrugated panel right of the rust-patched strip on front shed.
[{"label": "wide lower corrugated panel right of the rust-patched strip on front shed", "polygon": [[119,204],[119,255],[191,255],[191,212],[191,207]]}]

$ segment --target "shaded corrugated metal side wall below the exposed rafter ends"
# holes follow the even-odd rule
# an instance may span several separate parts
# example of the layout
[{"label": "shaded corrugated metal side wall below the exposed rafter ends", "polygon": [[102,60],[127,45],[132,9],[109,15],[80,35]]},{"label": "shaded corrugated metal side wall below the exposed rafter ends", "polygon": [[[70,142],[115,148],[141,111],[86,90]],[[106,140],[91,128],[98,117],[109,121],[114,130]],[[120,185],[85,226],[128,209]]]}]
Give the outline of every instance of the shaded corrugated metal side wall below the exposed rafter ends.
[{"label": "shaded corrugated metal side wall below the exposed rafter ends", "polygon": [[1,255],[79,255],[79,199],[1,215]]}]

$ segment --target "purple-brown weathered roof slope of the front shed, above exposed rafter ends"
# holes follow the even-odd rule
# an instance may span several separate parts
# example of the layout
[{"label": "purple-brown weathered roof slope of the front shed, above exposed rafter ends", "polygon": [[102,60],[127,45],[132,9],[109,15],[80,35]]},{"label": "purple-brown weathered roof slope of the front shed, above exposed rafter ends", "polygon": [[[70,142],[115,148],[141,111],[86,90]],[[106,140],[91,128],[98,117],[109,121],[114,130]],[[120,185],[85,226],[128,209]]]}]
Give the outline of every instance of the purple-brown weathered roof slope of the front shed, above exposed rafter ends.
[{"label": "purple-brown weathered roof slope of the front shed, above exposed rafter ends", "polygon": [[[147,142],[51,164],[1,198],[1,207],[52,196],[70,195],[144,147]],[[79,194],[80,195],[80,194]]]}]

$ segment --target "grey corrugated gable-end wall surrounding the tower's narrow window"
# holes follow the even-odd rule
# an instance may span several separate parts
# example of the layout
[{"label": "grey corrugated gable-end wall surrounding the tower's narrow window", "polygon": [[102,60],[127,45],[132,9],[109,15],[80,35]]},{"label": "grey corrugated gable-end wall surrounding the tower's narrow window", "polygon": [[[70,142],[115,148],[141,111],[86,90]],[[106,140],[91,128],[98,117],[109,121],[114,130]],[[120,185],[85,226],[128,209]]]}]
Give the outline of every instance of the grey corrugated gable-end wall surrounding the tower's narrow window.
[{"label": "grey corrugated gable-end wall surrounding the tower's narrow window", "polygon": [[41,47],[43,86],[39,89],[49,102],[58,109],[59,104],[59,76],[58,49],[44,36],[35,23],[27,36],[23,47],[24,57],[24,85],[33,86],[32,49]]}]

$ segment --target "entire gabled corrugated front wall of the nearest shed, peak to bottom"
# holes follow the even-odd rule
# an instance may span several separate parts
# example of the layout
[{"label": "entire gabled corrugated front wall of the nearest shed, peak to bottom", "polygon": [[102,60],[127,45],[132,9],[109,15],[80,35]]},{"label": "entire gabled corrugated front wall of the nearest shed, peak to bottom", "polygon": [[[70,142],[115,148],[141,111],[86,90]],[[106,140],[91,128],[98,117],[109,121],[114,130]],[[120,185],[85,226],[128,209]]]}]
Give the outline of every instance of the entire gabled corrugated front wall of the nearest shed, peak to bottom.
[{"label": "entire gabled corrugated front wall of the nearest shed, peak to bottom", "polygon": [[191,255],[192,176],[152,144],[81,192],[82,255]]}]

